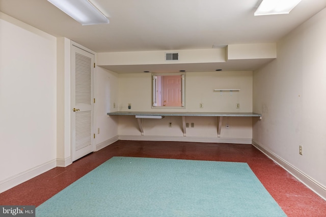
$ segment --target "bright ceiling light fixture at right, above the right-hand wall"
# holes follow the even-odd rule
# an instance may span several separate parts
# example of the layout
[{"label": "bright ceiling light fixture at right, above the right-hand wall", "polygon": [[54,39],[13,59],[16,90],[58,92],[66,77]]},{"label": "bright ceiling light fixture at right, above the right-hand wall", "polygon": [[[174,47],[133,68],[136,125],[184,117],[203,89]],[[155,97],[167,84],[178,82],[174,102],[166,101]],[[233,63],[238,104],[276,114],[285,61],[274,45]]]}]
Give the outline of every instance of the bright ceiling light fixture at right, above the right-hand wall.
[{"label": "bright ceiling light fixture at right, above the right-hand wall", "polygon": [[288,14],[301,0],[263,0],[255,12],[255,16]]}]

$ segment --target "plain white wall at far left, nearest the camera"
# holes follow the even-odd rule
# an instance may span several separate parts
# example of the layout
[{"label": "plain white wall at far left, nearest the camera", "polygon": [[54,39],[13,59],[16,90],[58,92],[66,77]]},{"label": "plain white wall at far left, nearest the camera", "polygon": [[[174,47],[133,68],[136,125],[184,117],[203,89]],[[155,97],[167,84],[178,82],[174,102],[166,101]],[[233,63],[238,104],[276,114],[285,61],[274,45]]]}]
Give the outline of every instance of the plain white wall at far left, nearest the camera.
[{"label": "plain white wall at far left, nearest the camera", "polygon": [[0,12],[0,48],[3,192],[56,166],[56,38]]}]

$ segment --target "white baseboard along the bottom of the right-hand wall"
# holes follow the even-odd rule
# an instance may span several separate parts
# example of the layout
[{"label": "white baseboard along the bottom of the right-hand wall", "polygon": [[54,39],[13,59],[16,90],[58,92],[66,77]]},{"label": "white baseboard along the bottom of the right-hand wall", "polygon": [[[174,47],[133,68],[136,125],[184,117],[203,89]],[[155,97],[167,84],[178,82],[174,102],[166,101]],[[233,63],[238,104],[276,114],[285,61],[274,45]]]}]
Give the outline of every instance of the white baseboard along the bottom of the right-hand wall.
[{"label": "white baseboard along the bottom of the right-hand wall", "polygon": [[270,152],[266,148],[264,148],[261,144],[259,144],[256,141],[252,141],[252,144],[258,148],[261,152],[263,152],[268,158],[276,162],[278,165],[280,165],[282,168],[284,168],[286,171],[288,171],[291,175],[293,175],[297,180],[301,181],[303,184],[305,184],[309,189],[311,189],[313,192],[315,192],[319,197],[321,197],[323,200],[326,200],[326,187],[324,187],[322,184],[318,183],[316,180],[308,176],[307,174],[303,173],[302,171],[298,170],[288,162],[284,161],[280,157],[278,157],[273,152]]}]

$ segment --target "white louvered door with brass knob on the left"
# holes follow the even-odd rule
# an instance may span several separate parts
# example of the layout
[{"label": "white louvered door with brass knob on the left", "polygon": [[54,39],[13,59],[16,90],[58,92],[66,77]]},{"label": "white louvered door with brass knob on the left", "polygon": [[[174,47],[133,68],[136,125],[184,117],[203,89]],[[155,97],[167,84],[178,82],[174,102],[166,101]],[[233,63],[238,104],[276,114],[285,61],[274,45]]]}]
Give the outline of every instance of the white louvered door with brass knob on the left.
[{"label": "white louvered door with brass knob on the left", "polygon": [[94,150],[94,55],[72,46],[72,160]]}]

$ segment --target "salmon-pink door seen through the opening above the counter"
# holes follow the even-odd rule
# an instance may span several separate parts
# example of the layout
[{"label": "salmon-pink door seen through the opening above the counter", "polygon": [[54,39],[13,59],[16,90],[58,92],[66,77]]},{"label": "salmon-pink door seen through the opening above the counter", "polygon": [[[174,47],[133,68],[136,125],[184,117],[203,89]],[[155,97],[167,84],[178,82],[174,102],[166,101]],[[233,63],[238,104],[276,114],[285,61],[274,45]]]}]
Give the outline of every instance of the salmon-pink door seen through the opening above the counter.
[{"label": "salmon-pink door seen through the opening above the counter", "polygon": [[182,106],[182,76],[162,76],[162,78],[164,91],[163,106]]}]

